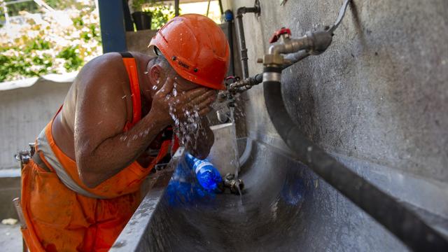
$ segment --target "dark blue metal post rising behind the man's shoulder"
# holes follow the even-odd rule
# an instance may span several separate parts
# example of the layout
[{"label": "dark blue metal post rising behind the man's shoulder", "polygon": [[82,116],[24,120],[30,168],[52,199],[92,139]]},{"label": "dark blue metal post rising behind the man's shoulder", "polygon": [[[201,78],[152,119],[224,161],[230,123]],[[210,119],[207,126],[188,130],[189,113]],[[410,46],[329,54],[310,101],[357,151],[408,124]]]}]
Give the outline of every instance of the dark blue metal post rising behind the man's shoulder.
[{"label": "dark blue metal post rising behind the man's shoulder", "polygon": [[98,0],[103,53],[125,52],[126,34],[122,0]]}]

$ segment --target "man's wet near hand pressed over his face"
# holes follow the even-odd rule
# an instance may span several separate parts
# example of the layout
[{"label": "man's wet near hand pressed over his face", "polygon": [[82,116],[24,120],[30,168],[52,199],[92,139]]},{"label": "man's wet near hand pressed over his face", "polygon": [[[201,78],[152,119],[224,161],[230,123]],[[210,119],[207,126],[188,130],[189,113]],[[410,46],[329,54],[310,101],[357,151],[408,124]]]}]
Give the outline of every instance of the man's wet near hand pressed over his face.
[{"label": "man's wet near hand pressed over his face", "polygon": [[[216,91],[205,87],[179,93],[174,89],[174,80],[167,78],[163,87],[154,95],[149,114],[160,123],[169,125],[173,120],[185,120],[188,114],[197,112],[205,116],[211,111],[210,104],[216,99]],[[149,116],[148,114],[148,116]]]}]

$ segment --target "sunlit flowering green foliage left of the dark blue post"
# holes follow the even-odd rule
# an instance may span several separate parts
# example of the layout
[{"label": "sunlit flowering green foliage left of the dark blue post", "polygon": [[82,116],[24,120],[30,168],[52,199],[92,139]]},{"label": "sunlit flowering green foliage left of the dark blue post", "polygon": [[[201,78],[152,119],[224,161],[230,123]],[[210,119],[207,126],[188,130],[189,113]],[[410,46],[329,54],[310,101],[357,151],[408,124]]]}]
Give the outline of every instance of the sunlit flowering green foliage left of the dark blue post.
[{"label": "sunlit flowering green foliage left of the dark blue post", "polygon": [[[9,31],[0,29],[0,82],[77,71],[101,55],[99,18],[93,4],[86,6],[76,0],[46,2],[50,6],[60,3],[58,8],[66,10],[62,16],[43,13],[41,20],[20,13],[25,24],[12,24]],[[61,17],[73,24],[62,26]]]}]

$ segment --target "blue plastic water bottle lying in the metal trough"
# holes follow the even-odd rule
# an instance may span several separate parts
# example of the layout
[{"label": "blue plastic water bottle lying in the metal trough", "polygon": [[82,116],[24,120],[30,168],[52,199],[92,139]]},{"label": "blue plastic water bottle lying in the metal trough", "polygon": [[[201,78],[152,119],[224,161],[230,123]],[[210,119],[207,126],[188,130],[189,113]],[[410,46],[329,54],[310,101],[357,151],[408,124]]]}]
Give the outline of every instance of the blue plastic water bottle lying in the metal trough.
[{"label": "blue plastic water bottle lying in the metal trough", "polygon": [[223,178],[211,162],[195,158],[190,153],[186,153],[185,158],[188,166],[195,172],[197,181],[204,189],[223,190]]}]

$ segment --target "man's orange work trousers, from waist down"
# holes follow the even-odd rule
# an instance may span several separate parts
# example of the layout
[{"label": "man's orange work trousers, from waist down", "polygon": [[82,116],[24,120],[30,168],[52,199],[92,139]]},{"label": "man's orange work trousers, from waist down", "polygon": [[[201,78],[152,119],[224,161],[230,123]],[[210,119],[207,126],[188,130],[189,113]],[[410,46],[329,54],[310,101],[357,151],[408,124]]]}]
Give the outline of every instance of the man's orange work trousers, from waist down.
[{"label": "man's orange work trousers, from waist down", "polygon": [[137,209],[140,192],[113,199],[85,197],[32,160],[22,170],[22,235],[34,251],[108,251]]}]

